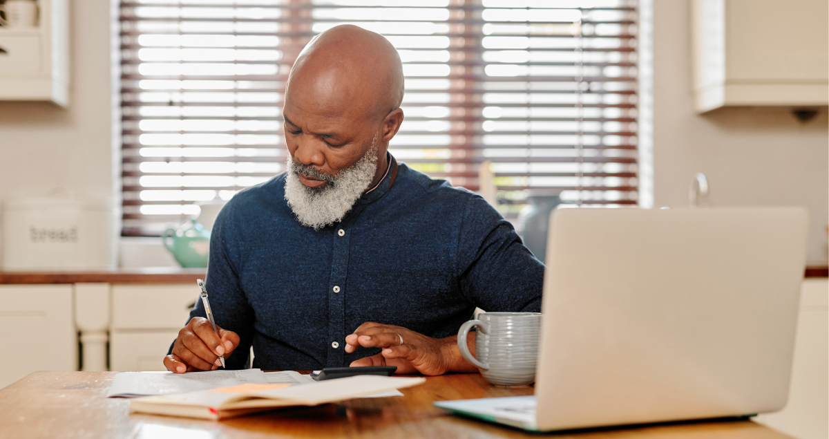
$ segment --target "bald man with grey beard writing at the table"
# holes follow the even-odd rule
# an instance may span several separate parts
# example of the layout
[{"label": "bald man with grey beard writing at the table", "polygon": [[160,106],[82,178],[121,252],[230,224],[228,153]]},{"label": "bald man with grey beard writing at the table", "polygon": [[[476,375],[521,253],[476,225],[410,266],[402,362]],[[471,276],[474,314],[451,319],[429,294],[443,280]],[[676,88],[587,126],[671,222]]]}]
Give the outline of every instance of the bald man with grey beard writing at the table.
[{"label": "bald man with grey beard writing at the table", "polygon": [[[539,311],[543,266],[481,197],[387,153],[403,71],[384,37],[322,32],[288,76],[287,171],[236,194],[213,227],[201,302],[164,358],[176,373],[395,365],[474,372],[458,327],[476,306]],[[474,352],[474,338],[470,349]]]}]

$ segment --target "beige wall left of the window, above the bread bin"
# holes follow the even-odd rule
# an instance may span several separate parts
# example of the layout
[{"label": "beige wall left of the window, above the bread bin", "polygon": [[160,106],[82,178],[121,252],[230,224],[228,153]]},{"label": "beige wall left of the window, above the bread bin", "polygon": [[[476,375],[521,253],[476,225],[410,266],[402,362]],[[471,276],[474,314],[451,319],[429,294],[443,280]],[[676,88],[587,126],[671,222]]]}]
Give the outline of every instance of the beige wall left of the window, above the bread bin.
[{"label": "beige wall left of the window, above the bread bin", "polygon": [[112,80],[118,69],[111,66],[118,56],[111,53],[109,26],[117,8],[106,1],[69,3],[69,108],[0,101],[0,200],[46,195],[53,188],[82,197],[120,197],[119,109]]}]

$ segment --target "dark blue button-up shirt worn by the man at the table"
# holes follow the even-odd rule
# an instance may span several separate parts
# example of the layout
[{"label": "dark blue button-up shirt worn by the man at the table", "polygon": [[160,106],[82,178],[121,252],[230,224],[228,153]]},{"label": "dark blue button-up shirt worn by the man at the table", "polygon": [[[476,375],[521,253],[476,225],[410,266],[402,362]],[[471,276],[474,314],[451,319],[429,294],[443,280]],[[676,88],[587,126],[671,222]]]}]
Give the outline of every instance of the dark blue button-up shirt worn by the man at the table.
[{"label": "dark blue button-up shirt worn by the man at the table", "polygon": [[251,345],[255,368],[344,367],[379,352],[344,350],[368,321],[441,338],[476,306],[541,309],[541,262],[468,190],[400,164],[342,222],[315,231],[293,215],[284,183],[280,174],[237,193],[213,226],[206,288],[216,324],[241,339],[228,368],[243,368]]}]

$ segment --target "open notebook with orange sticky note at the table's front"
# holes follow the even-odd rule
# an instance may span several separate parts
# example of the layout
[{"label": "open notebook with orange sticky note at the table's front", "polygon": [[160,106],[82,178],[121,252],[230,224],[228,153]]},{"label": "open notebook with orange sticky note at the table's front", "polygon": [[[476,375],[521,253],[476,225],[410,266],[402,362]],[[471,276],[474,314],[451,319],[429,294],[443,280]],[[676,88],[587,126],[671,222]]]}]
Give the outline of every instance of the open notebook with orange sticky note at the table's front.
[{"label": "open notebook with orange sticky note at the table's front", "polygon": [[360,375],[307,384],[243,383],[191,393],[133,399],[130,412],[225,419],[277,407],[316,406],[424,383],[425,378]]}]

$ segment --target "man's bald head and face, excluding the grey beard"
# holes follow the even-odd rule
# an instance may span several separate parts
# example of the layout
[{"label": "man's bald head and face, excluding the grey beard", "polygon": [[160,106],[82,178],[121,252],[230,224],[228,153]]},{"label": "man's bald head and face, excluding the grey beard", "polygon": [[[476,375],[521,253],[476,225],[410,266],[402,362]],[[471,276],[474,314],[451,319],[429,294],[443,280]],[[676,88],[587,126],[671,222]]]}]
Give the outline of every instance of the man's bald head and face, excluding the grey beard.
[{"label": "man's bald head and face, excluding the grey beard", "polygon": [[384,37],[351,25],[315,37],[293,64],[282,109],[289,160],[305,170],[297,172],[300,183],[330,188],[359,163],[371,163],[369,187],[379,183],[403,122],[402,100],[403,66]]}]

